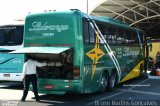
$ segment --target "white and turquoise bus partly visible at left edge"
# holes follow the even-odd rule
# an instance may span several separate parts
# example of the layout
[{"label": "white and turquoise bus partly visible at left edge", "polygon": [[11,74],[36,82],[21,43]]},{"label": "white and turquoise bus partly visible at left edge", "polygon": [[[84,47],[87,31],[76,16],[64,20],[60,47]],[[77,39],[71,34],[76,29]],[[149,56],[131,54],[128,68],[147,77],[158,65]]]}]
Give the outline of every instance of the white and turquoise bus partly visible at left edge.
[{"label": "white and turquoise bus partly visible at left edge", "polygon": [[0,81],[22,81],[23,54],[9,52],[23,48],[22,22],[0,26]]}]

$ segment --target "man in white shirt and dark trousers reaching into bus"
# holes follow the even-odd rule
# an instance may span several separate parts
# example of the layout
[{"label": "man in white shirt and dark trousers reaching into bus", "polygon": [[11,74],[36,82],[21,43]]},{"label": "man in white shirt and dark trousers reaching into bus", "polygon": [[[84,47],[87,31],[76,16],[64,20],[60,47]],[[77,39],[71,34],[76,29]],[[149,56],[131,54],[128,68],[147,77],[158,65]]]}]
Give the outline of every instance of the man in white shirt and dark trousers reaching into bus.
[{"label": "man in white shirt and dark trousers reaching into bus", "polygon": [[32,59],[28,59],[28,61],[24,63],[24,66],[23,66],[24,90],[23,90],[23,96],[21,99],[22,102],[24,102],[27,97],[30,83],[32,83],[33,92],[34,92],[36,101],[39,101],[39,95],[38,95],[38,89],[37,89],[36,67],[43,67],[46,65],[47,63],[45,62],[40,63]]}]

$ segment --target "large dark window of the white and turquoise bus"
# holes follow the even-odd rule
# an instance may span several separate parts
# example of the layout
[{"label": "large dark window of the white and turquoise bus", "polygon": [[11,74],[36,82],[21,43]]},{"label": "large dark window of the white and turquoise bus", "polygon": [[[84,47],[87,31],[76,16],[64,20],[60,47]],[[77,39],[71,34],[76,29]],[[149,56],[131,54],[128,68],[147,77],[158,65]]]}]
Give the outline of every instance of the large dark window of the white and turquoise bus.
[{"label": "large dark window of the white and turquoise bus", "polygon": [[3,26],[0,27],[0,46],[21,45],[23,39],[22,26]]}]

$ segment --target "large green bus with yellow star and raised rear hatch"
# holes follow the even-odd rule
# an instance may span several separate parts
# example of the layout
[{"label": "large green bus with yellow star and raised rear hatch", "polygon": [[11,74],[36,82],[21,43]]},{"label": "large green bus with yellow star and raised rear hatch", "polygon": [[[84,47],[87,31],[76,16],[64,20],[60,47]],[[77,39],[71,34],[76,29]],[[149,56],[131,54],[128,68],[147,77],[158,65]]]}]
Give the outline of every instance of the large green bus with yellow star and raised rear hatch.
[{"label": "large green bus with yellow star and raised rear hatch", "polygon": [[39,92],[93,93],[140,76],[144,66],[144,34],[104,17],[78,10],[26,17],[26,53],[49,66],[37,68]]}]

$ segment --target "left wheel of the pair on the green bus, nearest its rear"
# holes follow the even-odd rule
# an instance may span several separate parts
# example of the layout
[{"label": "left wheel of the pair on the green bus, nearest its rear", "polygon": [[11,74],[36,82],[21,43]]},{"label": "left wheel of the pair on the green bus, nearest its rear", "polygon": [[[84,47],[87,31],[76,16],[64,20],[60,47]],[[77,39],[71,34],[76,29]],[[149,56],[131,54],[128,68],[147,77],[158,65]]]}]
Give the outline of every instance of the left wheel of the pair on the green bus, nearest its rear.
[{"label": "left wheel of the pair on the green bus, nearest its rear", "polygon": [[102,75],[101,79],[100,79],[100,93],[104,93],[106,92],[107,86],[108,86],[108,74],[105,73]]}]

